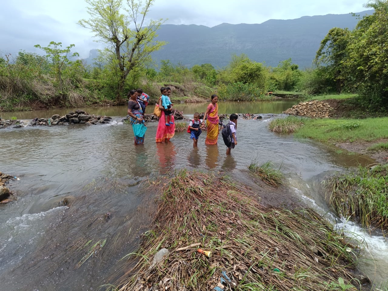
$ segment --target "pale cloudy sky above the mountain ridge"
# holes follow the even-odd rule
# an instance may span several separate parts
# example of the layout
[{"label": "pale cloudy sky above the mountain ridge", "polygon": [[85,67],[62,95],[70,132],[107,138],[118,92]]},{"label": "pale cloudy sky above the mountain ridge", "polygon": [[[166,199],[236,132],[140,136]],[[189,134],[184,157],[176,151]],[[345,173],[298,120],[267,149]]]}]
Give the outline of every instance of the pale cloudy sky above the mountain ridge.
[{"label": "pale cloudy sky above the mountain ridge", "polygon": [[[268,19],[361,12],[367,0],[156,0],[149,16],[169,24],[216,26],[221,23],[263,23]],[[77,24],[87,19],[83,0],[12,0],[0,7],[0,55],[19,50],[38,52],[34,45],[51,41],[75,44],[85,58],[99,47],[93,34]]]}]

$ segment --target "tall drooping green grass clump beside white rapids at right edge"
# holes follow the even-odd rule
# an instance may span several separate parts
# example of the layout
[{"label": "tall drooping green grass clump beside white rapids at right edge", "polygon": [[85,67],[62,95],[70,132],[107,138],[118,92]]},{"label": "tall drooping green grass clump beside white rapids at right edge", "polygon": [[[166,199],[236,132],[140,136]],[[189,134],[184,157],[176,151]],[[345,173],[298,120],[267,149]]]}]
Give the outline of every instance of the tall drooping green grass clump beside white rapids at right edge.
[{"label": "tall drooping green grass clump beside white rapids at right edge", "polygon": [[328,202],[340,217],[364,227],[388,230],[388,165],[359,167],[357,174],[338,174],[327,181]]}]

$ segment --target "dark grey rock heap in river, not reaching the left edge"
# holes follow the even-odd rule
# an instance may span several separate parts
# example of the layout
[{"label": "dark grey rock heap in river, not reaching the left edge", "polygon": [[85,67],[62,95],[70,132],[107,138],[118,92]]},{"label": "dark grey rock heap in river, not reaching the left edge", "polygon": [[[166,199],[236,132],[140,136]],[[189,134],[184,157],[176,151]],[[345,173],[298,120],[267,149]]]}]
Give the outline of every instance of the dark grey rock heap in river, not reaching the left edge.
[{"label": "dark grey rock heap in river, not reaching the left edge", "polygon": [[75,112],[69,111],[68,114],[60,116],[54,114],[51,118],[35,118],[31,121],[31,125],[61,125],[64,123],[109,123],[112,120],[109,116],[101,116],[95,114],[89,114],[83,110],[76,110]]}]

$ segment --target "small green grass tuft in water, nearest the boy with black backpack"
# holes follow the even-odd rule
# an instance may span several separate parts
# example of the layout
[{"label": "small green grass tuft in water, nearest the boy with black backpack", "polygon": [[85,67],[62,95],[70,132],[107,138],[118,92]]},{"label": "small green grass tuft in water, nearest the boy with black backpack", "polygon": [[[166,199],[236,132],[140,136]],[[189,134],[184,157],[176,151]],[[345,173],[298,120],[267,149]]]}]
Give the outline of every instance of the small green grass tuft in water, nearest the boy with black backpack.
[{"label": "small green grass tuft in water, nearest the boy with black backpack", "polygon": [[273,168],[274,164],[270,161],[258,165],[255,161],[252,161],[248,166],[249,173],[256,178],[261,178],[268,185],[278,187],[284,183],[284,175],[279,170]]}]

